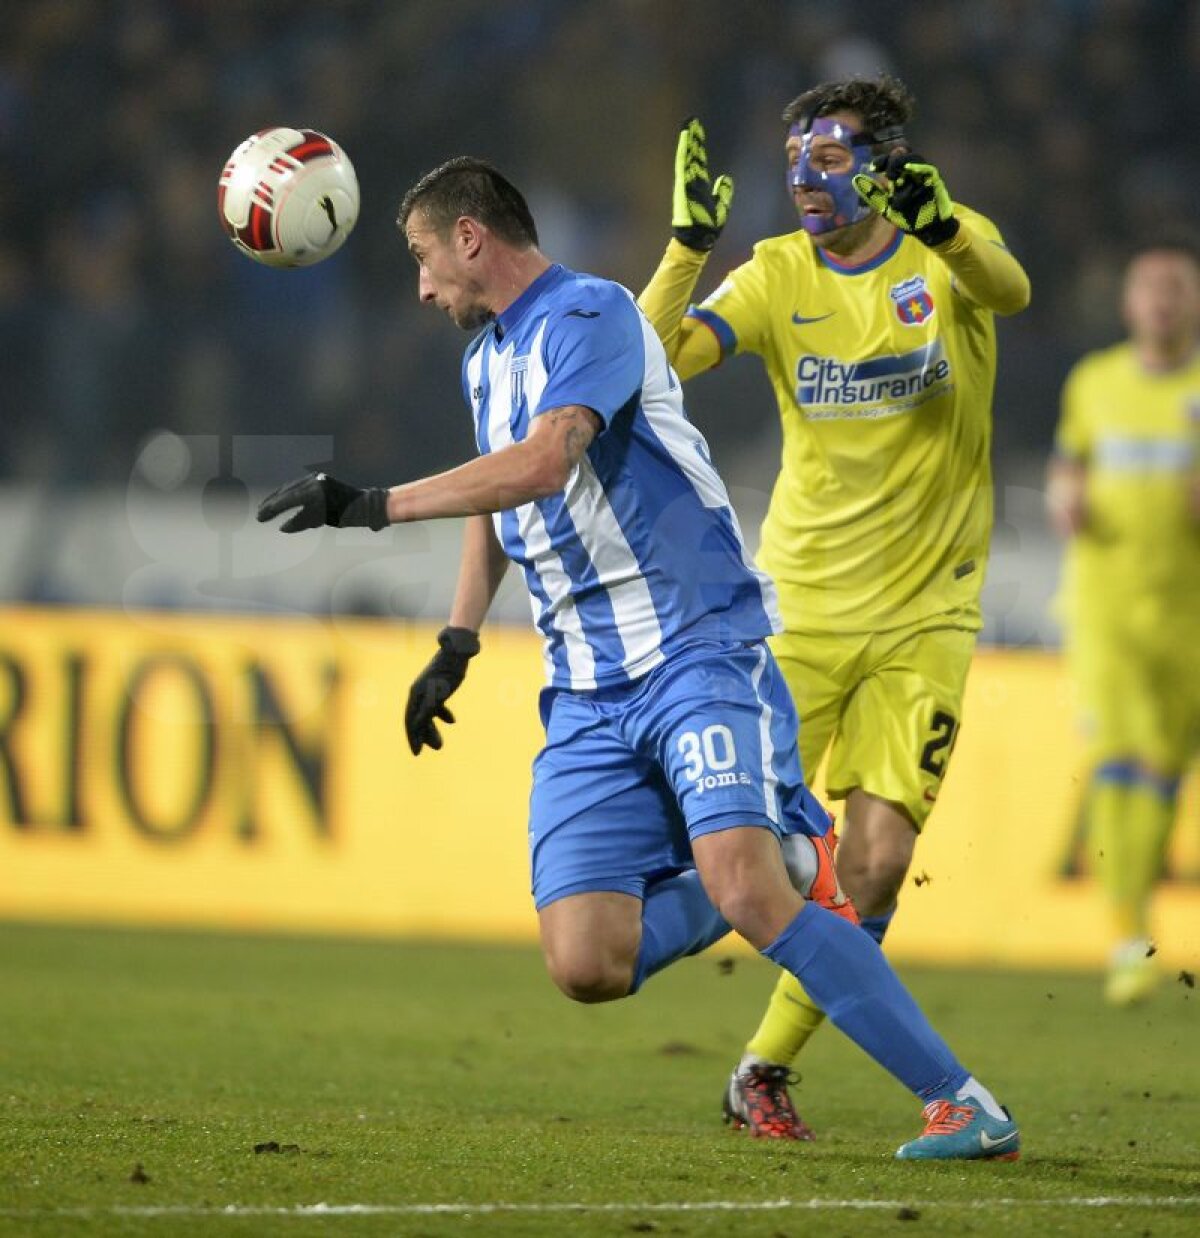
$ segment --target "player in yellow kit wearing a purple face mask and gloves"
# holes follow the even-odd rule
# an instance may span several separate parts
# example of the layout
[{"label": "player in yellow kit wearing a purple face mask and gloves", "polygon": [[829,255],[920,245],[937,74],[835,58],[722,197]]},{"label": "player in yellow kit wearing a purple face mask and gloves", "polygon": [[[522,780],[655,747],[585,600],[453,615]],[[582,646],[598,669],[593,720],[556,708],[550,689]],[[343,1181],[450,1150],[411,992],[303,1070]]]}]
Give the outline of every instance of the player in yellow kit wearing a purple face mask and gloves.
[{"label": "player in yellow kit wearing a purple face mask and gloves", "polygon": [[[759,563],[785,631],[772,646],[810,775],[828,749],[827,790],[846,801],[837,870],[876,941],[959,730],[992,529],[993,317],[1029,300],[996,227],[951,202],[909,147],[911,110],[890,77],[790,103],[786,187],[801,228],[755,245],[698,306],[733,187],[710,178],[690,121],[674,239],[639,298],[681,379],[750,352],[774,386],[783,461]],[[812,1138],[788,1082],[822,1019],[783,976],[729,1078],[727,1122]]]}]

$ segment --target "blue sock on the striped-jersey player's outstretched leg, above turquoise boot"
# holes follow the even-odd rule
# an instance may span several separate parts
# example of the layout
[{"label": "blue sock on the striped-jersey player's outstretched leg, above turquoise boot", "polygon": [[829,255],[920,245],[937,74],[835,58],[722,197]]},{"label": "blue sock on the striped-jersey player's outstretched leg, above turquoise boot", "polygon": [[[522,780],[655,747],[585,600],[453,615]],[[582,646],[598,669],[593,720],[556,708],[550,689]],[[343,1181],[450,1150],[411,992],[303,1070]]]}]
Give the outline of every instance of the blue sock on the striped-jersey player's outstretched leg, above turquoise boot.
[{"label": "blue sock on the striped-jersey player's outstretched leg, above turquoise boot", "polygon": [[763,951],[807,989],[833,1025],[923,1101],[970,1078],[879,947],[841,916],[806,903]]}]

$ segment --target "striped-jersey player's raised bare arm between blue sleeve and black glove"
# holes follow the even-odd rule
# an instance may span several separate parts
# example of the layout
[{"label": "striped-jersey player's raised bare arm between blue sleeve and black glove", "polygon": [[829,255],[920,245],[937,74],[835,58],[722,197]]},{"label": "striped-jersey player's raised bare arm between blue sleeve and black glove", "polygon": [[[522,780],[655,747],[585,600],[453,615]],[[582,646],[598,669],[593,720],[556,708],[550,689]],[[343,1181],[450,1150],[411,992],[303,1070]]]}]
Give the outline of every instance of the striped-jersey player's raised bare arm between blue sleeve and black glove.
[{"label": "striped-jersey player's raised bare arm between blue sleeve and black glove", "polygon": [[596,437],[599,418],[570,405],[535,417],[529,437],[446,473],[394,485],[388,520],[442,520],[508,511],[557,494]]}]

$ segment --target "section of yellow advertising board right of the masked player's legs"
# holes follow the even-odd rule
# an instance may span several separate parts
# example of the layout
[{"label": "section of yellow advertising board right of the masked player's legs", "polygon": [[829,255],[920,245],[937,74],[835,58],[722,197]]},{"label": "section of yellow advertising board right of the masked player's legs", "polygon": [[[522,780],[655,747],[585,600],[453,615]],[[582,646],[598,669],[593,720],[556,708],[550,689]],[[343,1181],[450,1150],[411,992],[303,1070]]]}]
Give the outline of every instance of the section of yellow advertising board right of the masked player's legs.
[{"label": "section of yellow advertising board right of the masked player's legs", "polygon": [[[1087,874],[1087,768],[1056,655],[981,650],[962,728],[888,933],[897,958],[1098,964],[1111,931]],[[1155,898],[1165,962],[1200,962],[1200,812],[1189,786]]]}]

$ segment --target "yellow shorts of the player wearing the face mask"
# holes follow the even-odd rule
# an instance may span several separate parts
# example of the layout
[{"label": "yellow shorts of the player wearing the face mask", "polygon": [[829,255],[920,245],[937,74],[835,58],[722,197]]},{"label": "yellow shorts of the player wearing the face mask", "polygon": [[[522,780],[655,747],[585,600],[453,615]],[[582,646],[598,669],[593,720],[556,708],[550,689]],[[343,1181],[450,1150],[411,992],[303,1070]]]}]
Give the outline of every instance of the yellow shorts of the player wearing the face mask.
[{"label": "yellow shorts of the player wearing the face mask", "polygon": [[924,828],[959,734],[975,639],[945,615],[878,634],[773,636],[800,713],[805,777],[828,748],[830,799],[861,787]]}]

